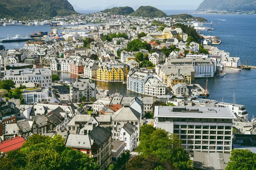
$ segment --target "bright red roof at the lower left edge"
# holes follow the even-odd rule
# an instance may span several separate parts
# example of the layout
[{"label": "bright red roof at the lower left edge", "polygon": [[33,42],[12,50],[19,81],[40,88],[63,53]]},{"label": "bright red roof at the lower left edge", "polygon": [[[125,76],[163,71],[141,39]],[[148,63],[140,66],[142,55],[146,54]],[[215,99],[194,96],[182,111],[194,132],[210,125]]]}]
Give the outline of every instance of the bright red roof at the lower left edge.
[{"label": "bright red roof at the lower left edge", "polygon": [[0,151],[8,152],[10,150],[19,149],[24,142],[25,142],[25,139],[21,136],[17,136],[15,138],[0,142]]}]

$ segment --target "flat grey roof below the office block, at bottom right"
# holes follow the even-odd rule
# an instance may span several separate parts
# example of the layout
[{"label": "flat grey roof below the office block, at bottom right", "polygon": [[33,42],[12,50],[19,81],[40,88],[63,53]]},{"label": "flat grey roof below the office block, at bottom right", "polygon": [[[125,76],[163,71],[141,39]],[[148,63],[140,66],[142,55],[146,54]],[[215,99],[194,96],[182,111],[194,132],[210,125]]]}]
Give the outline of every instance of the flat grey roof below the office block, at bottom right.
[{"label": "flat grey roof below the office block, at bottom right", "polygon": [[204,153],[194,151],[194,168],[204,170],[225,170],[230,153]]}]

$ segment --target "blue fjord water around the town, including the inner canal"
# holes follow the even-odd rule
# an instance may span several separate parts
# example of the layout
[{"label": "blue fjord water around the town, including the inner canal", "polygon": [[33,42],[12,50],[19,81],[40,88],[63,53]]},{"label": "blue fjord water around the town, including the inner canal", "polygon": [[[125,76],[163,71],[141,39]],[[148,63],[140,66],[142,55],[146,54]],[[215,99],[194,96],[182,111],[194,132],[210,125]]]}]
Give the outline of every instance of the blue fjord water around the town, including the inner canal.
[{"label": "blue fjord water around the town, including the inner canal", "polygon": [[[192,13],[189,11],[168,11],[163,10],[166,14],[180,14]],[[256,66],[256,53],[254,52],[256,46],[256,15],[229,15],[229,14],[192,14],[195,17],[204,17],[208,23],[213,21],[213,24],[220,23],[220,25],[213,25],[213,36],[220,37],[222,40],[218,48],[230,52],[230,57],[240,57],[243,63],[248,57],[248,65]],[[210,27],[210,25],[205,25]],[[15,34],[26,36],[33,31],[50,31],[49,26],[0,26],[0,37],[14,37]],[[201,34],[210,35],[210,31],[202,31]],[[11,35],[11,36],[10,36]],[[22,48],[24,42],[9,43],[4,45],[7,49]],[[225,69],[227,75],[223,78],[208,79],[208,89],[210,91],[209,99],[214,99],[224,102],[232,102],[233,93],[236,95],[236,103],[245,105],[251,118],[253,114],[256,116],[254,105],[256,102],[256,69],[251,71],[232,71]],[[61,79],[68,82],[76,81],[76,75],[67,73],[58,73]],[[198,84],[205,88],[206,79],[196,79]],[[141,96],[126,90],[126,84],[122,83],[106,83],[96,82],[98,87],[109,89],[110,93],[116,90],[124,96]]]}]

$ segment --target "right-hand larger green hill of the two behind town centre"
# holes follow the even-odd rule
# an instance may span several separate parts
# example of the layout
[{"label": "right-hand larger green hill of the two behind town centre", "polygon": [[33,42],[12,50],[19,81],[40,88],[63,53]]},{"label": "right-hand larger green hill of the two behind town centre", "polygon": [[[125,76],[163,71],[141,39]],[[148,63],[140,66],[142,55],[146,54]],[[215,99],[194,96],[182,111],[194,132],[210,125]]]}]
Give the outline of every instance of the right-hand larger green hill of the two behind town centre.
[{"label": "right-hand larger green hill of the two behind town centre", "polygon": [[152,6],[140,6],[136,11],[130,14],[134,17],[167,17],[166,13],[163,11],[154,8]]}]

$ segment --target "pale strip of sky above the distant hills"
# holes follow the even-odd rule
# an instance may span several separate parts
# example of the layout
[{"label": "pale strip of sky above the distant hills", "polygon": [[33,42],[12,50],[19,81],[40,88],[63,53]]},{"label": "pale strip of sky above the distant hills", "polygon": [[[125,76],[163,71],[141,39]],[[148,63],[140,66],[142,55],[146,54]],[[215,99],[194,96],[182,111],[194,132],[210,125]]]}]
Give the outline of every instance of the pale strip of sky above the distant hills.
[{"label": "pale strip of sky above the distant hills", "polygon": [[101,9],[107,6],[154,6],[158,9],[176,9],[193,10],[198,8],[203,0],[68,0],[74,8],[88,9],[91,7],[99,7]]}]

